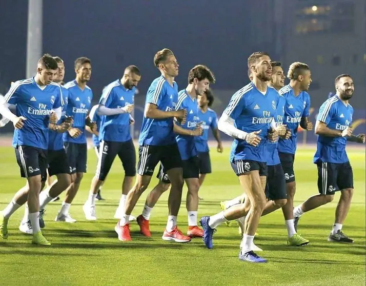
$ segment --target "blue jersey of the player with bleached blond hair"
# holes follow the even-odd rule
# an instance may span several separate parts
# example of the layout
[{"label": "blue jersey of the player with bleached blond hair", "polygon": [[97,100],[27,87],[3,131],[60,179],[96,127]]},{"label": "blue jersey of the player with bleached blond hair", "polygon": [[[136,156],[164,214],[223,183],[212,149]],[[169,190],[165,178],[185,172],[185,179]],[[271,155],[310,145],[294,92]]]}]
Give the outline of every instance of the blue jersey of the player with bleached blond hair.
[{"label": "blue jersey of the player with bleached blond hair", "polygon": [[286,99],[283,124],[286,124],[287,129],[291,130],[291,137],[289,139],[278,140],[278,152],[295,154],[297,129],[299,128],[301,117],[308,117],[310,115],[310,96],[306,91],[301,91],[298,96],[295,96],[294,90],[290,85],[284,86],[278,93]]}]

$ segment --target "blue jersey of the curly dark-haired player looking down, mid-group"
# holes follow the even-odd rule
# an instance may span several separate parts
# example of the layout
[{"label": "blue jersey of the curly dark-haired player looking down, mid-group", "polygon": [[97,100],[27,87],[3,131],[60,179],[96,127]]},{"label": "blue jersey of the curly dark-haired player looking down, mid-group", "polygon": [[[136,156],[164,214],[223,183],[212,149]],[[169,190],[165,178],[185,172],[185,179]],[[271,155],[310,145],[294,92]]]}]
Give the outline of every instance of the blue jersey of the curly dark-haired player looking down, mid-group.
[{"label": "blue jersey of the curly dark-haired player looking down, mid-group", "polygon": [[[176,122],[176,124],[181,128],[187,130],[196,129],[198,123],[197,98],[192,98],[185,89],[179,91],[176,110],[178,109],[187,110],[187,119],[184,125],[179,124],[179,122]],[[179,135],[179,134],[175,137],[177,140],[178,149],[182,160],[187,160],[191,157],[197,156],[194,137],[195,136]]]}]

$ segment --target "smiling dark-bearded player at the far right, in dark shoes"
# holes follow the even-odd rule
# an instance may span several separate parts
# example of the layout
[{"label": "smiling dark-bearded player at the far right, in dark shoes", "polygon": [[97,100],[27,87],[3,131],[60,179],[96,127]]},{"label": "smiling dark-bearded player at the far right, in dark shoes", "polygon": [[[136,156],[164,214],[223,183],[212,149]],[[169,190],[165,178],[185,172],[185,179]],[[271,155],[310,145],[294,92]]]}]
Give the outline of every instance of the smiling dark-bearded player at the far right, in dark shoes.
[{"label": "smiling dark-bearded player at the far right, in dark shoes", "polygon": [[335,192],[340,191],[328,241],[353,243],[353,239],[342,232],[342,224],[350,210],[353,195],[353,172],[345,146],[347,141],[364,143],[365,134],[352,135],[353,107],[349,100],[354,92],[354,84],[351,76],[337,76],[335,89],[336,95],[320,107],[315,124],[315,133],[319,135],[314,155],[314,164],[318,167],[319,194],[294,209],[295,227],[304,213],[331,202]]}]

